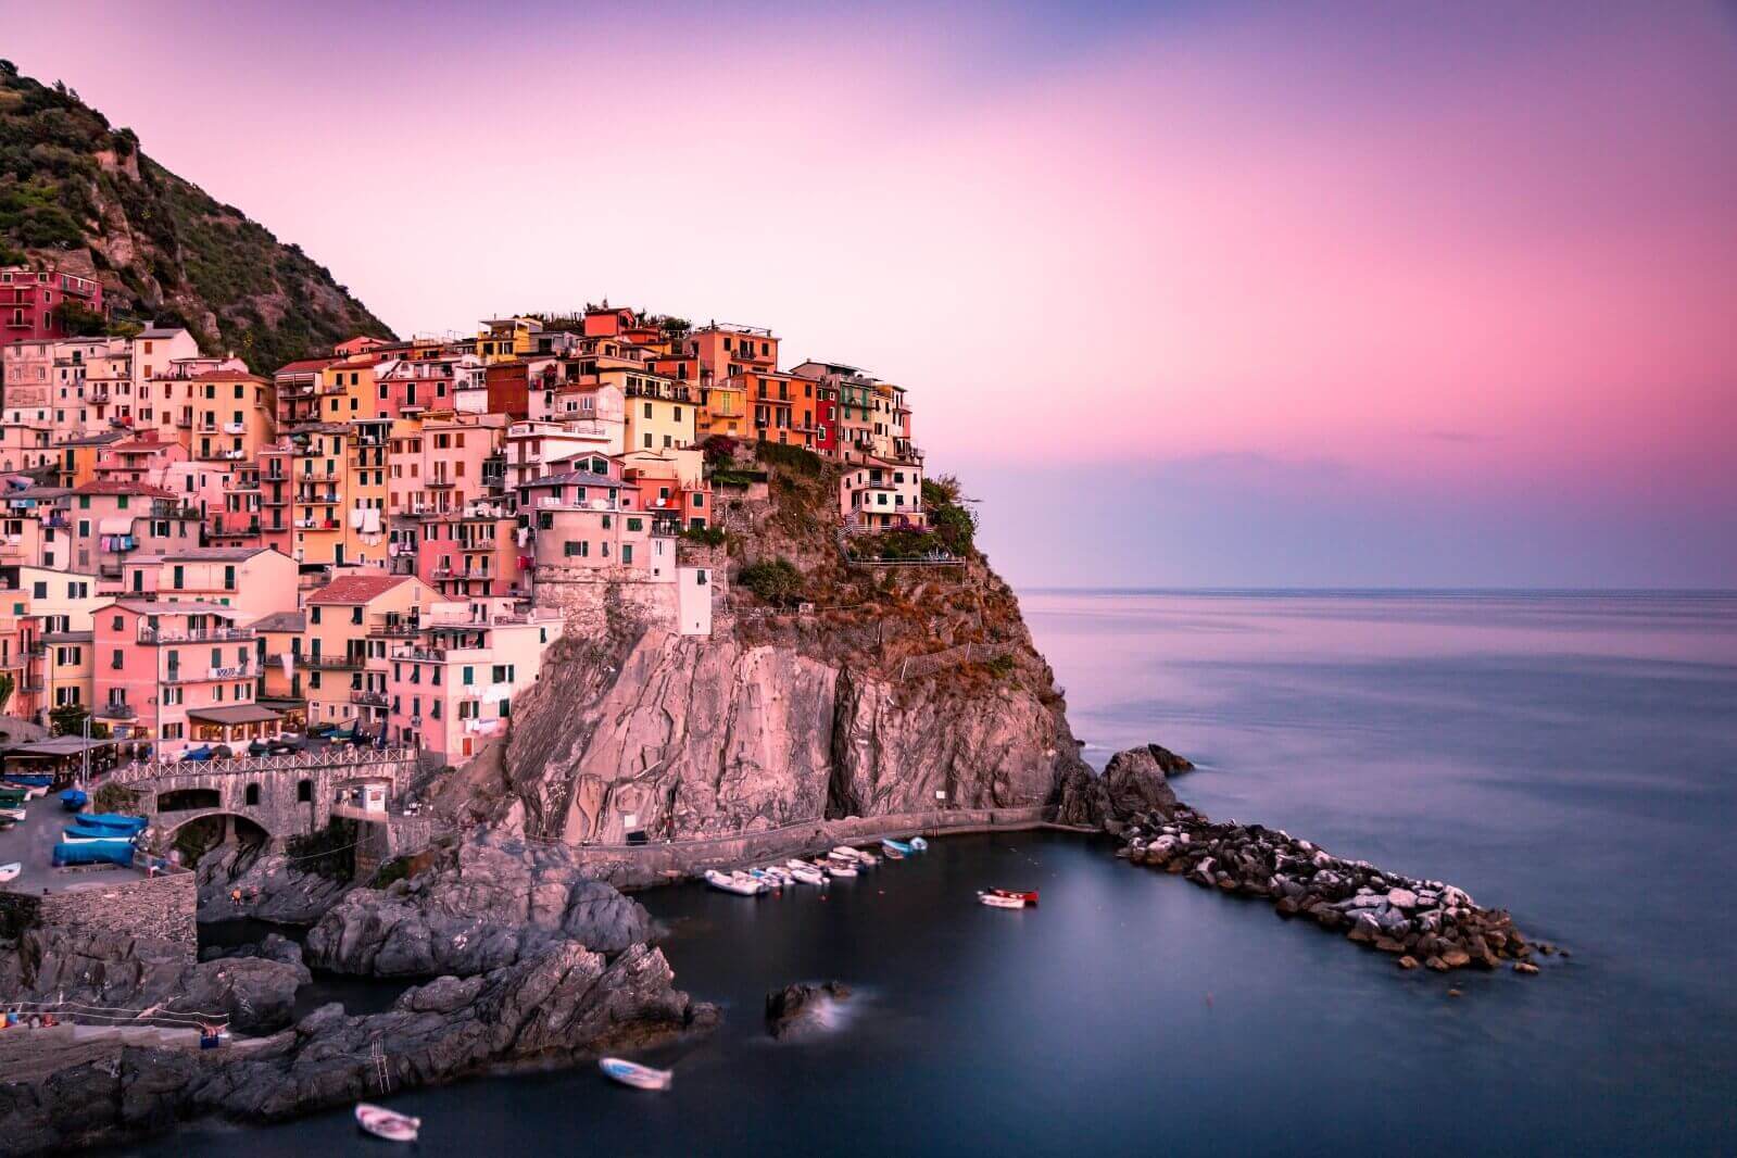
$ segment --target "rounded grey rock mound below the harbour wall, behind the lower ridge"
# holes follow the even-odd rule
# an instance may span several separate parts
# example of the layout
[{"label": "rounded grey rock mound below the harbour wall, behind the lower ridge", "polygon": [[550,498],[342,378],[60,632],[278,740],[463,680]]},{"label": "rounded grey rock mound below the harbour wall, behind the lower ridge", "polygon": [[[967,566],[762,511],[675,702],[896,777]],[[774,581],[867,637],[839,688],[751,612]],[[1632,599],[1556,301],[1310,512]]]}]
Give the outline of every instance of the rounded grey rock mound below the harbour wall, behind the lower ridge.
[{"label": "rounded grey rock mound below the harbour wall, behind the lower ridge", "polygon": [[380,977],[474,976],[556,941],[620,953],[655,934],[643,905],[589,880],[563,844],[460,842],[410,880],[354,889],[307,932],[307,962]]}]

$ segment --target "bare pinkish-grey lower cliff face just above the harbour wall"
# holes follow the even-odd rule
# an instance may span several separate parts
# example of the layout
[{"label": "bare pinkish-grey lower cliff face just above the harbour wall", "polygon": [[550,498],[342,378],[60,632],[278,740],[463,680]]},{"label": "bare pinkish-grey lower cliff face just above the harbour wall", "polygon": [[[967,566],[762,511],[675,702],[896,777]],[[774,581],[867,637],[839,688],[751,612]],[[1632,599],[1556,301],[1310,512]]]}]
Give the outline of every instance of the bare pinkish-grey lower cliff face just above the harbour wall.
[{"label": "bare pinkish-grey lower cliff face just above the harbour wall", "polygon": [[551,677],[514,705],[493,816],[617,844],[632,830],[688,839],[1044,806],[1058,776],[1084,766],[1047,667],[1023,648],[1006,679],[912,681],[818,641],[749,646],[650,627],[620,653],[561,648]]}]

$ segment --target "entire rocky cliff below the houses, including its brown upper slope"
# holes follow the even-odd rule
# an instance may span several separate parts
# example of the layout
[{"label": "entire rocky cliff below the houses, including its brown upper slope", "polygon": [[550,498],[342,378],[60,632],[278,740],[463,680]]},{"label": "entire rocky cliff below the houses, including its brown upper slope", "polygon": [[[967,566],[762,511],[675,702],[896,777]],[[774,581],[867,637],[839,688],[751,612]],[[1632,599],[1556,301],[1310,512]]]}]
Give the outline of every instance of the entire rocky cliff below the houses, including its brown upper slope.
[{"label": "entire rocky cliff below the houses, including its brown upper slope", "polygon": [[[448,807],[462,795],[509,832],[613,844],[1054,802],[1079,747],[988,563],[853,566],[832,530],[834,469],[764,465],[764,500],[726,516],[714,634],[611,604],[606,630],[552,648]],[[766,559],[801,576],[794,597],[740,582]]]}]

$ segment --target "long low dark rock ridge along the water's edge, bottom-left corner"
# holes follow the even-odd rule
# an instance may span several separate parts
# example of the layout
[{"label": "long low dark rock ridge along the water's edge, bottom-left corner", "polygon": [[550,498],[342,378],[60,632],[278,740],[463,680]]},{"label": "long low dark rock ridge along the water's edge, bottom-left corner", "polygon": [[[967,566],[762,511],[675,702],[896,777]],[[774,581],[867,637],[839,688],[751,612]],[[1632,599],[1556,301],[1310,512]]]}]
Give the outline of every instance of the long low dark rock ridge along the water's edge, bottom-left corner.
[{"label": "long low dark rock ridge along the water's edge, bottom-left corner", "polygon": [[604,958],[561,941],[478,977],[410,990],[382,1014],[325,1005],[247,1052],[116,1047],[26,1080],[0,1076],[0,1137],[7,1153],[66,1151],[201,1113],[276,1120],[377,1094],[382,1066],[394,1089],[431,1085],[493,1064],[636,1049],[716,1019],[672,988],[657,950]]}]

